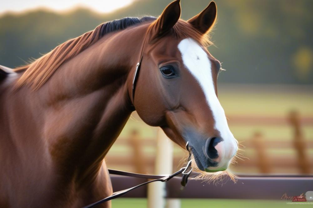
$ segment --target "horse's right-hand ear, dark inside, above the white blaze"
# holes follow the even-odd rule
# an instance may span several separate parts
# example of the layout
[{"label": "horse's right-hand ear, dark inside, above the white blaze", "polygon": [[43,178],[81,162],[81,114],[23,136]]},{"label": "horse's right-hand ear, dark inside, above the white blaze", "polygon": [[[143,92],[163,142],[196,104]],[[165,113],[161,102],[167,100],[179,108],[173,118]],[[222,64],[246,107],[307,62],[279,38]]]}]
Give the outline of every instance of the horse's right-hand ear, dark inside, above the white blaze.
[{"label": "horse's right-hand ear, dark inside, above the white blaze", "polygon": [[188,22],[202,34],[208,33],[214,26],[217,16],[217,8],[215,2],[209,5],[199,14],[192,17]]}]

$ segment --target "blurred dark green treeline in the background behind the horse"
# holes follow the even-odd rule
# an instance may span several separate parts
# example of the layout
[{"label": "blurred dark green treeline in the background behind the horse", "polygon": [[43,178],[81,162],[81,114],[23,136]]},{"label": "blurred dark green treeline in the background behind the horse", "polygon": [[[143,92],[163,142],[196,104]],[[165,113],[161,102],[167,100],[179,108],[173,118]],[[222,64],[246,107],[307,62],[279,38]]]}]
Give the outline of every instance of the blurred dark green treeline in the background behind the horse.
[{"label": "blurred dark green treeline in the background behind the horse", "polygon": [[[126,16],[157,16],[169,2],[138,0],[109,14],[84,8],[65,13],[39,10],[4,14],[0,16],[0,64],[22,65],[101,22]],[[187,20],[209,1],[181,3],[182,18]],[[218,22],[212,32],[216,47],[209,47],[209,51],[227,70],[219,76],[219,82],[313,84],[312,58],[308,52],[313,48],[312,0],[216,0],[216,3]],[[303,51],[302,47],[306,49]]]}]

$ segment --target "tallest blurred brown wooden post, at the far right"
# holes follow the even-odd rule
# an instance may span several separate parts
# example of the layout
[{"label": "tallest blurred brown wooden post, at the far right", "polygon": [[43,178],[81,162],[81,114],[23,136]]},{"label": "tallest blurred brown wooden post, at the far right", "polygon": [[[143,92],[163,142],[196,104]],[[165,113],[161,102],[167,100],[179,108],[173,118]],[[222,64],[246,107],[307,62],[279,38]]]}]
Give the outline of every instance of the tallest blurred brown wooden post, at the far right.
[{"label": "tallest blurred brown wooden post, at the far right", "polygon": [[297,151],[297,164],[302,174],[310,173],[310,163],[305,154],[305,140],[301,130],[300,115],[297,111],[290,111],[289,121],[294,131],[294,146]]}]

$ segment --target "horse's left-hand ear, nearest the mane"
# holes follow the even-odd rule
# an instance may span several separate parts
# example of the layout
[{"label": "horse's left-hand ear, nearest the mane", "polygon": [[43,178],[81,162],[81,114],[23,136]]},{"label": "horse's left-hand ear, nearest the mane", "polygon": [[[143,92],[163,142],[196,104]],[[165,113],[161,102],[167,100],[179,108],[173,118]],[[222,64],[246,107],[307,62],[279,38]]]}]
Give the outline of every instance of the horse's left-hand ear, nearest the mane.
[{"label": "horse's left-hand ear, nearest the mane", "polygon": [[181,14],[180,0],[173,1],[164,9],[160,17],[157,18],[151,31],[155,37],[167,33],[178,21]]}]

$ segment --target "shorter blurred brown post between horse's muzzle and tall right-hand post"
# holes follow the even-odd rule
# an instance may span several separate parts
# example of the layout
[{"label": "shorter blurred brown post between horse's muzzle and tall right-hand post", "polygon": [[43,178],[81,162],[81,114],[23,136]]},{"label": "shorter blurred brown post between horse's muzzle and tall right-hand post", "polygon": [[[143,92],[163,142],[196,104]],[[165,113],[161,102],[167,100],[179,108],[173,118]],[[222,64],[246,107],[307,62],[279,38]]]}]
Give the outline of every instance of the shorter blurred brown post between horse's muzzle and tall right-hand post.
[{"label": "shorter blurred brown post between horse's muzzle and tall right-hand post", "polygon": [[256,155],[258,158],[257,164],[259,166],[260,173],[269,173],[270,167],[268,158],[266,156],[266,150],[264,148],[264,141],[262,141],[263,136],[260,132],[255,132],[252,138]]}]

